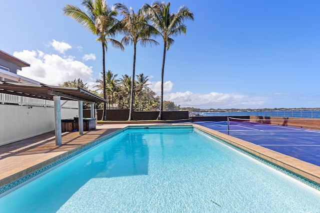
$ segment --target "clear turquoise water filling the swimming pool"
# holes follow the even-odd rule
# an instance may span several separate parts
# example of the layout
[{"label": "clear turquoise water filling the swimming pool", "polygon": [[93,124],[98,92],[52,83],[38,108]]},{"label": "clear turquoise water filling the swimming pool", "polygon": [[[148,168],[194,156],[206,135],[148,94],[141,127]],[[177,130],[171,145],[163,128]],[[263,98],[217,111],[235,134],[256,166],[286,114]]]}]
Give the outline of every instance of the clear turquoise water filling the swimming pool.
[{"label": "clear turquoise water filling the swimming pool", "polygon": [[130,129],[0,198],[2,213],[316,213],[320,193],[193,128]]}]

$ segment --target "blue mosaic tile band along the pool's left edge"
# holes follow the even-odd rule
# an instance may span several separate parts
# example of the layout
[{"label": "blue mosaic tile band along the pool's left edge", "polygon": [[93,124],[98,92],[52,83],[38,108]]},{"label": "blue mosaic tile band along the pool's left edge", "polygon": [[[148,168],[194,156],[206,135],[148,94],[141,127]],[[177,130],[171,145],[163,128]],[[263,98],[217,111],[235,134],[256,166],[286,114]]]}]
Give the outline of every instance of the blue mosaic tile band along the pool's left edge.
[{"label": "blue mosaic tile band along the pool's left edge", "polygon": [[92,141],[93,143],[88,145],[87,147],[84,147],[83,149],[80,149],[80,150],[78,150],[78,151],[76,151],[74,153],[71,153],[70,155],[67,155],[67,156],[65,156],[65,157],[63,157],[63,158],[61,158],[61,159],[59,159],[59,160],[57,160],[57,161],[55,161],[53,163],[50,163],[50,164],[48,164],[48,165],[46,165],[46,166],[44,166],[44,167],[42,167],[42,168],[40,168],[40,169],[38,169],[38,170],[36,170],[34,172],[31,172],[31,173],[29,173],[29,174],[27,174],[27,175],[15,180],[15,181],[12,181],[12,182],[0,187],[0,196],[3,193],[13,189],[14,187],[17,187],[20,184],[23,184],[24,182],[31,180],[32,178],[36,177],[37,175],[40,175],[41,173],[44,173],[44,172],[52,169],[53,167],[55,167],[55,166],[65,162],[65,161],[67,161],[67,160],[69,160],[69,159],[71,159],[71,158],[73,158],[73,157],[75,157],[75,156],[77,156],[77,155],[79,155],[79,154],[81,154],[81,153],[83,153],[83,152],[85,152],[85,151],[87,151],[87,150],[99,145],[100,143],[105,142],[105,140],[108,140],[108,139],[112,138],[113,136],[124,132],[125,129],[126,128],[124,128],[122,130],[115,131],[113,133],[110,133],[110,134],[108,134],[108,135],[106,135],[106,136],[104,136],[102,138],[97,139],[96,142]]}]

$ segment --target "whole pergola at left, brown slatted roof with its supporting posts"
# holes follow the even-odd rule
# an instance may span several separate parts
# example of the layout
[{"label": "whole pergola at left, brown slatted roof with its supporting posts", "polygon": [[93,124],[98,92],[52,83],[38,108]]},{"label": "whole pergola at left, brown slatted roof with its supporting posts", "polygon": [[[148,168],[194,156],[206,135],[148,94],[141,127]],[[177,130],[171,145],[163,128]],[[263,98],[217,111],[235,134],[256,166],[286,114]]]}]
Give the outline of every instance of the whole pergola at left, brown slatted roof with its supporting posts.
[{"label": "whole pergola at left, brown slatted roof with its supporting posts", "polygon": [[94,117],[94,103],[106,102],[93,93],[80,87],[60,87],[49,86],[45,84],[24,84],[0,81],[0,93],[11,95],[19,95],[31,98],[39,98],[44,100],[52,100],[54,102],[54,122],[55,122],[55,144],[61,145],[61,104],[60,100],[76,100],[78,101],[79,114],[79,134],[83,134],[83,111],[82,103],[91,103],[91,117]]}]

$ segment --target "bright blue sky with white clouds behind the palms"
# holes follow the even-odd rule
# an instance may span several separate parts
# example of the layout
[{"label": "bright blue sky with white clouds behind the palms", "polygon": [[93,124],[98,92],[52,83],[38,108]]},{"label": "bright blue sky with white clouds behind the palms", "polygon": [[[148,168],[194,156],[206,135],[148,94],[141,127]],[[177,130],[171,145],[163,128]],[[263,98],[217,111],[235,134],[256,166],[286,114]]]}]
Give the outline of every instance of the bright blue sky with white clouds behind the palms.
[{"label": "bright blue sky with white clouds behind the palms", "polygon": [[[95,36],[62,13],[80,0],[1,2],[0,49],[28,63],[18,74],[57,85],[102,71]],[[112,5],[116,0],[108,0]],[[135,11],[145,0],[123,0]],[[171,0],[194,21],[166,54],[164,100],[199,108],[320,107],[319,0]],[[118,36],[120,39],[121,36]],[[137,47],[136,74],[159,94],[163,43]],[[108,46],[106,69],[131,75],[133,48]]]}]

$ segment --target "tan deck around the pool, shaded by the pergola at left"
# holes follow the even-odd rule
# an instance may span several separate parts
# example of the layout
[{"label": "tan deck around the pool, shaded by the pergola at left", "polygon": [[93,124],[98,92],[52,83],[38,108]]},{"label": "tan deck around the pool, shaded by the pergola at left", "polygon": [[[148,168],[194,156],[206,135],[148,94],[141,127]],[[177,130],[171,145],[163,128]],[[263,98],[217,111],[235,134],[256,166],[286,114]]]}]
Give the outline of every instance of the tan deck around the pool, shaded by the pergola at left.
[{"label": "tan deck around the pool, shaded by the pergola at left", "polygon": [[[176,123],[192,124],[190,122]],[[98,124],[95,130],[83,132],[63,132],[62,145],[55,145],[54,131],[32,138],[0,146],[0,187],[24,175],[57,161],[93,140],[99,139],[126,126],[155,124]],[[161,124],[156,124],[161,125]],[[163,123],[163,125],[174,125]],[[320,167],[286,156],[264,147],[228,136],[209,128],[192,124],[195,128],[222,139],[258,157],[288,169],[320,185]]]}]

